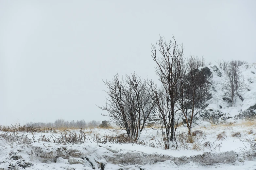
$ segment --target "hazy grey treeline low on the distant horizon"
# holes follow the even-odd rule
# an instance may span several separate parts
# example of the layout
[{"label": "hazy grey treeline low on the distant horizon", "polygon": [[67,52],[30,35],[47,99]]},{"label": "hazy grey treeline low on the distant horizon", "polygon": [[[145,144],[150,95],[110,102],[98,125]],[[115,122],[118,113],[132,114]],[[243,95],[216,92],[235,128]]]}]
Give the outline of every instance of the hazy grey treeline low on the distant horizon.
[{"label": "hazy grey treeline low on the distant horizon", "polygon": [[77,120],[77,121],[65,121],[63,119],[55,120],[55,122],[49,122],[49,123],[43,123],[43,122],[37,122],[29,123],[30,126],[34,127],[58,127],[58,128],[66,128],[66,129],[85,129],[85,128],[95,128],[100,125],[100,121],[92,120],[89,122],[86,122],[85,120]]}]

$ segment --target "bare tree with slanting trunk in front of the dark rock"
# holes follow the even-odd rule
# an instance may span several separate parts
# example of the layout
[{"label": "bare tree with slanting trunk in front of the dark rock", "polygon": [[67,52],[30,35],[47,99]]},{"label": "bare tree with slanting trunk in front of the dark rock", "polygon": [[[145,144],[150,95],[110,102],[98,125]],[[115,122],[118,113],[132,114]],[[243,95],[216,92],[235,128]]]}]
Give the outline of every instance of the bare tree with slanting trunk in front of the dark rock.
[{"label": "bare tree with slanting trunk in front of the dark rock", "polygon": [[210,97],[211,84],[209,78],[198,68],[204,65],[204,60],[190,55],[187,60],[185,77],[181,77],[181,97],[179,105],[185,117],[188,134],[191,135],[191,128],[198,124],[197,115],[206,107],[206,101]]}]

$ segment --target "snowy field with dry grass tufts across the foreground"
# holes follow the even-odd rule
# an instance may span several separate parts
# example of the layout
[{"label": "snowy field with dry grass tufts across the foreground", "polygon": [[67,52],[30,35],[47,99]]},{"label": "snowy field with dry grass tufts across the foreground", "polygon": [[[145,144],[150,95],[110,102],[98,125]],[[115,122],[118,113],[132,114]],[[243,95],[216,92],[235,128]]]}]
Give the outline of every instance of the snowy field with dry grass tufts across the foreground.
[{"label": "snowy field with dry grass tufts across the foreground", "polygon": [[[140,136],[140,144],[103,141],[104,136],[113,138],[124,134],[114,129],[82,130],[86,139],[77,144],[58,143],[57,139],[70,133],[79,135],[79,130],[62,130],[57,134],[16,132],[16,136],[27,136],[31,143],[12,141],[11,144],[0,138],[0,169],[256,169],[256,150],[250,146],[250,141],[256,137],[255,122],[231,126],[203,122],[193,129],[192,132],[200,130],[203,134],[193,136],[192,143],[182,138],[186,130],[179,126],[178,148],[168,150],[164,149],[162,134],[157,128],[146,128]],[[45,142],[47,139],[51,142]]]}]

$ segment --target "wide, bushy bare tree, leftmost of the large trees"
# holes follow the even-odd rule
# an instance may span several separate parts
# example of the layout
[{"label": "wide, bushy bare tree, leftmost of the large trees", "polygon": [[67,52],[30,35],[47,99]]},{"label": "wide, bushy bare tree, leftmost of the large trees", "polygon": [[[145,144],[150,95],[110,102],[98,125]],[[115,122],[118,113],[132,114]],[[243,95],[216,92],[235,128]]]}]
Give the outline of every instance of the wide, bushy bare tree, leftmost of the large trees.
[{"label": "wide, bushy bare tree, leftmost of the large trees", "polygon": [[145,125],[150,122],[154,111],[154,102],[146,81],[140,76],[126,75],[125,80],[119,80],[118,74],[112,81],[103,81],[108,87],[106,110],[111,120],[120,128],[126,130],[128,137],[137,140]]}]

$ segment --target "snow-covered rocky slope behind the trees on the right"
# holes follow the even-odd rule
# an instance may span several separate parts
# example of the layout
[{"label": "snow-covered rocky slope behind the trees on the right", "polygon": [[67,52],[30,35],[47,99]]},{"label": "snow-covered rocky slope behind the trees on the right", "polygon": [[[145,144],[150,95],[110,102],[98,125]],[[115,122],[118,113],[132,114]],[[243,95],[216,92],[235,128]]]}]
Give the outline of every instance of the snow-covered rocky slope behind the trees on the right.
[{"label": "snow-covered rocky slope behind the trees on the right", "polygon": [[[202,117],[213,123],[234,122],[237,119],[251,120],[256,116],[256,63],[244,64],[239,67],[248,87],[236,98],[235,106],[230,106],[229,101],[223,99],[221,83],[226,78],[222,69],[216,65],[209,65],[199,68],[208,74],[213,81],[212,98],[207,101],[209,104]],[[210,69],[210,70],[209,70]]]}]

